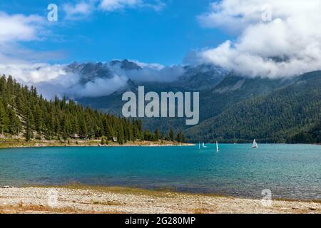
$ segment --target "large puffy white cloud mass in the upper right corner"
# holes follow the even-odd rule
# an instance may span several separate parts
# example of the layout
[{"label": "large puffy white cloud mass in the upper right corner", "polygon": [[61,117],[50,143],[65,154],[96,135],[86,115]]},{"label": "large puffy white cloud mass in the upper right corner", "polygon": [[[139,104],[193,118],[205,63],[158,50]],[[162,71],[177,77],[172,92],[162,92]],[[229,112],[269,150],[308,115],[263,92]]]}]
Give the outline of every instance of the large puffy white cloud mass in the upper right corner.
[{"label": "large puffy white cloud mass in the upper right corner", "polygon": [[321,69],[319,0],[223,0],[198,16],[205,27],[236,34],[198,58],[250,77],[280,78]]}]

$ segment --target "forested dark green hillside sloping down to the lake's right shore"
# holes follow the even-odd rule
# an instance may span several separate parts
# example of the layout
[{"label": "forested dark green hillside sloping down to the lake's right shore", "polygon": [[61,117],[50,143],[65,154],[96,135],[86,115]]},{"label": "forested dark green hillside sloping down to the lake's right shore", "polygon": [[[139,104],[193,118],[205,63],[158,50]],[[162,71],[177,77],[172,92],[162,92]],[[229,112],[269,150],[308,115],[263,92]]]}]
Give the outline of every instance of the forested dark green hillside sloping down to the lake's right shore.
[{"label": "forested dark green hillside sloping down to the lake's right shore", "polygon": [[186,130],[186,135],[189,140],[208,142],[250,142],[254,138],[259,142],[301,142],[295,135],[305,133],[311,137],[305,142],[317,142],[320,119],[321,72],[317,71],[300,76],[290,86],[237,103]]}]

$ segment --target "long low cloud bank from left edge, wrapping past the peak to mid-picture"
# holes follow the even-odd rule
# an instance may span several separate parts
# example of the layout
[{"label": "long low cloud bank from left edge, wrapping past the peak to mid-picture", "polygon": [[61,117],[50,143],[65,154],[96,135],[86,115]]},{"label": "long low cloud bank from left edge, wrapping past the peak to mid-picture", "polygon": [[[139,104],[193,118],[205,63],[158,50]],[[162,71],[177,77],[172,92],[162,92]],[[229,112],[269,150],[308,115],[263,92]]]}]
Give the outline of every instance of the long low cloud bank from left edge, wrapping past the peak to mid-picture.
[{"label": "long low cloud bank from left edge, wrapping past the peak to mid-picture", "polygon": [[[138,62],[137,62],[138,63]],[[93,63],[94,64],[94,63]],[[110,95],[128,86],[128,80],[141,82],[172,82],[185,72],[182,66],[164,67],[158,64],[140,63],[139,70],[125,70],[109,66],[111,76],[96,76],[83,83],[81,72],[68,71],[67,65],[48,63],[0,64],[0,73],[11,75],[26,86],[36,86],[39,93],[51,99],[55,95],[62,98],[94,98]],[[86,76],[85,76],[86,78]]]}]

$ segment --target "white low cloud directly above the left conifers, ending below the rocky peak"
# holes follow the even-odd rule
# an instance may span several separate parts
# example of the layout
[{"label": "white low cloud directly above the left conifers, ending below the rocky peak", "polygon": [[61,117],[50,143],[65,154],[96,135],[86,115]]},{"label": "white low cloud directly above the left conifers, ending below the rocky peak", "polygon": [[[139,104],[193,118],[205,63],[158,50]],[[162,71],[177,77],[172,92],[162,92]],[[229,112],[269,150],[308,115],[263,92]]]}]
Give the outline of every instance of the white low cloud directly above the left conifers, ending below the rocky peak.
[{"label": "white low cloud directly above the left conifers, ending below the rocky peak", "polygon": [[95,78],[81,84],[81,75],[66,71],[66,65],[47,63],[0,65],[0,73],[14,76],[26,86],[36,86],[45,98],[55,95],[69,98],[97,97],[109,95],[127,85],[126,76],[113,75],[111,78]]}]

